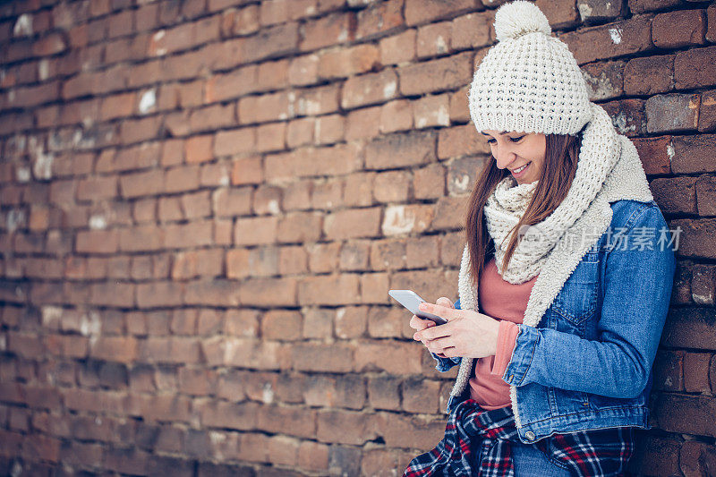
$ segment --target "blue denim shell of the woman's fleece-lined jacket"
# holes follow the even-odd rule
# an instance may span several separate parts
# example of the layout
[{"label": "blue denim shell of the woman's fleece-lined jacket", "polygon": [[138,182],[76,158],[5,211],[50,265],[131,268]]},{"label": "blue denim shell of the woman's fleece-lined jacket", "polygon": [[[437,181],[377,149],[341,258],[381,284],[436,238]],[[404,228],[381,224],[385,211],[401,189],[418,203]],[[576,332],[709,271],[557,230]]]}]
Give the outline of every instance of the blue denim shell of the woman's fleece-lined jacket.
[{"label": "blue denim shell of the woman's fleece-lined jacket", "polygon": [[[669,309],[674,243],[668,232],[657,243],[668,225],[655,201],[610,206],[611,233],[586,253],[537,327],[517,325],[502,379],[516,387],[517,431],[526,444],[577,430],[651,429],[652,363]],[[461,362],[431,354],[438,371]],[[450,396],[447,413],[469,389]]]}]

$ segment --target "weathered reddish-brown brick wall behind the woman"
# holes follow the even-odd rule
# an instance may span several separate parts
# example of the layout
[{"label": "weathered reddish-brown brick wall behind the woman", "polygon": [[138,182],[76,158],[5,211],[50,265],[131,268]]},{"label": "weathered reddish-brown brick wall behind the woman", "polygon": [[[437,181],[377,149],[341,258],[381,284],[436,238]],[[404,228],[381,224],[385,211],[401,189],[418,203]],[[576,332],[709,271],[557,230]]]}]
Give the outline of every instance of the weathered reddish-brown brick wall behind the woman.
[{"label": "weathered reddish-brown brick wall behind the woman", "polygon": [[[442,437],[499,1],[0,5],[0,473],[395,475]],[[681,226],[631,473],[716,473],[716,5],[538,2]]]}]

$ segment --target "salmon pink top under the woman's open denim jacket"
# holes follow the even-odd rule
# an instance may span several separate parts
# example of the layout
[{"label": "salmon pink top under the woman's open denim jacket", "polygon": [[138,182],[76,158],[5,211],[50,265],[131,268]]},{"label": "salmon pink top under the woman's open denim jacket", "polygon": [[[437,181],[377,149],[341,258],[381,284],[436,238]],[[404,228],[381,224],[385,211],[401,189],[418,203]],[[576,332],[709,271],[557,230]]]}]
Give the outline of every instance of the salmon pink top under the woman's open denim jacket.
[{"label": "salmon pink top under the woman's open denim jacket", "polygon": [[502,379],[512,358],[515,341],[522,323],[527,301],[537,277],[513,285],[499,276],[494,257],[486,264],[480,277],[478,299],[481,312],[499,319],[497,353],[475,360],[470,378],[470,397],[483,409],[491,410],[510,405],[509,385]]}]

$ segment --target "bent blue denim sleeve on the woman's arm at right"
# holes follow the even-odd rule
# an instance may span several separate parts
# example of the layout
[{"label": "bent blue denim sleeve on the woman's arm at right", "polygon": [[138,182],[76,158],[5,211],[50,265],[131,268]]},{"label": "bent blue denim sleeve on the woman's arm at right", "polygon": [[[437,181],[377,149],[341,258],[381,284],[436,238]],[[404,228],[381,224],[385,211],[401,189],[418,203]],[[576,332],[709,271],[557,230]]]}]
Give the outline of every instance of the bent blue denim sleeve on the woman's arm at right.
[{"label": "bent blue denim sleeve on the woman's arm at right", "polygon": [[629,245],[639,233],[637,227],[654,227],[654,239],[667,227],[655,202],[635,215],[626,230],[627,246],[605,253],[598,340],[519,324],[515,351],[503,375],[506,382],[536,382],[609,397],[642,393],[669,310],[676,258],[670,244],[656,240],[652,250]]}]

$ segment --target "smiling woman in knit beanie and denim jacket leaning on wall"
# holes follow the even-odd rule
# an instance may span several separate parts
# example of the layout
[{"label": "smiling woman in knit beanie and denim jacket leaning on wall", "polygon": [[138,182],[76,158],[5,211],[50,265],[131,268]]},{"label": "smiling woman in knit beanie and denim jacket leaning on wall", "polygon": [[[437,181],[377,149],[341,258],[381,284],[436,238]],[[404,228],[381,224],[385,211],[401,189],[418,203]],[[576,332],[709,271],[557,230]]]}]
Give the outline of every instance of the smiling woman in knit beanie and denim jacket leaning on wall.
[{"label": "smiling woman in knit beanie and denim jacket leaning on wall", "polygon": [[460,365],[438,447],[405,475],[621,475],[647,424],[675,257],[636,149],[588,100],[534,4],[495,15],[469,93],[490,143],[469,202],[456,307],[411,319]]}]

